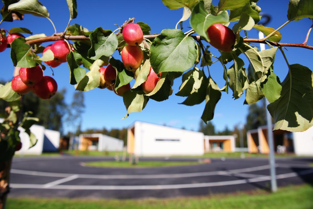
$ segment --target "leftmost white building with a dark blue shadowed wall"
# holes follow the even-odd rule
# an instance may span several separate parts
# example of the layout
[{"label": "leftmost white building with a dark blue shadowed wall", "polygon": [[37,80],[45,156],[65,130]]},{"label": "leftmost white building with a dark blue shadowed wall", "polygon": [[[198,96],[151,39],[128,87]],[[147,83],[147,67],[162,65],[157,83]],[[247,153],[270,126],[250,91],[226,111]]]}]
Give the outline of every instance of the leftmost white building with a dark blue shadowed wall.
[{"label": "leftmost white building with a dark blue shadowed wall", "polygon": [[18,127],[20,131],[22,148],[15,152],[16,154],[35,154],[40,155],[43,152],[56,152],[60,144],[60,132],[45,129],[44,126],[33,125],[30,131],[36,136],[37,143],[30,147],[29,136],[22,127]]}]

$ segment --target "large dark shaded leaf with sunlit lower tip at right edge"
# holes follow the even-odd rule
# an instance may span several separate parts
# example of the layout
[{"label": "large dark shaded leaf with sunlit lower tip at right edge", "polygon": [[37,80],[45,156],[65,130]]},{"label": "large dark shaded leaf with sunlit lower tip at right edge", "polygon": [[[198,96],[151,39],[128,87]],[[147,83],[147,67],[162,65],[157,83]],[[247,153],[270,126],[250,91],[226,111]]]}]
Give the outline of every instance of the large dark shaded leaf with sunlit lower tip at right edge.
[{"label": "large dark shaded leaf with sunlit lower tip at right edge", "polygon": [[313,72],[300,64],[290,65],[282,82],[281,97],[267,106],[275,130],[305,131],[313,126]]}]

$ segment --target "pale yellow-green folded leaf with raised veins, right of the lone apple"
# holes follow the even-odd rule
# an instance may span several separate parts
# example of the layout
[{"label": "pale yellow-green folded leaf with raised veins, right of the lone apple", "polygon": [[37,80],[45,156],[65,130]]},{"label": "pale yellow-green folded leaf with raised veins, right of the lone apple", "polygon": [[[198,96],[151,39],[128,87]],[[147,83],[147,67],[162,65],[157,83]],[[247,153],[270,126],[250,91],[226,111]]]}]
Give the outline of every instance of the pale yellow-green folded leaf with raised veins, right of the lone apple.
[{"label": "pale yellow-green folded leaf with raised veins, right of the lone apple", "polygon": [[256,80],[261,79],[263,82],[266,78],[266,74],[269,67],[272,66],[275,60],[275,54],[278,47],[258,51],[257,48],[249,48],[247,46],[239,48],[249,59],[252,67],[254,68],[254,77]]}]

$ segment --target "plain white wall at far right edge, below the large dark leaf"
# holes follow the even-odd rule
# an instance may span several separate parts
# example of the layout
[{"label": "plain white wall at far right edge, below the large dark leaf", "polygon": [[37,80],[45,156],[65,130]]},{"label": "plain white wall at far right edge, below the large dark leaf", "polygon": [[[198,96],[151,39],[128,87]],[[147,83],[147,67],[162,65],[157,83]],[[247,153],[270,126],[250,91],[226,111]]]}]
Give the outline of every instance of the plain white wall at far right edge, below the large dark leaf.
[{"label": "plain white wall at far right edge, below the large dark leaf", "polygon": [[293,133],[295,154],[313,155],[313,127],[303,132]]}]

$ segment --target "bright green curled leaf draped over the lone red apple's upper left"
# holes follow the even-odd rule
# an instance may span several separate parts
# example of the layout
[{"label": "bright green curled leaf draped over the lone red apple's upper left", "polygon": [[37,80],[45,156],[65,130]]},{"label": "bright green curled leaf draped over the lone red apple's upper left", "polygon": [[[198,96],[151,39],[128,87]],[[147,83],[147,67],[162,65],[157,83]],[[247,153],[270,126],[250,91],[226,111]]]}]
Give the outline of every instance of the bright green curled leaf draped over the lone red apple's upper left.
[{"label": "bright green curled leaf draped over the lone red apple's upper left", "polygon": [[208,42],[210,42],[207,33],[208,28],[213,24],[228,23],[228,21],[229,16],[226,11],[216,16],[209,14],[202,1],[200,1],[195,8],[193,8],[190,17],[190,25],[192,29],[194,29],[194,31],[199,35],[203,36]]}]

